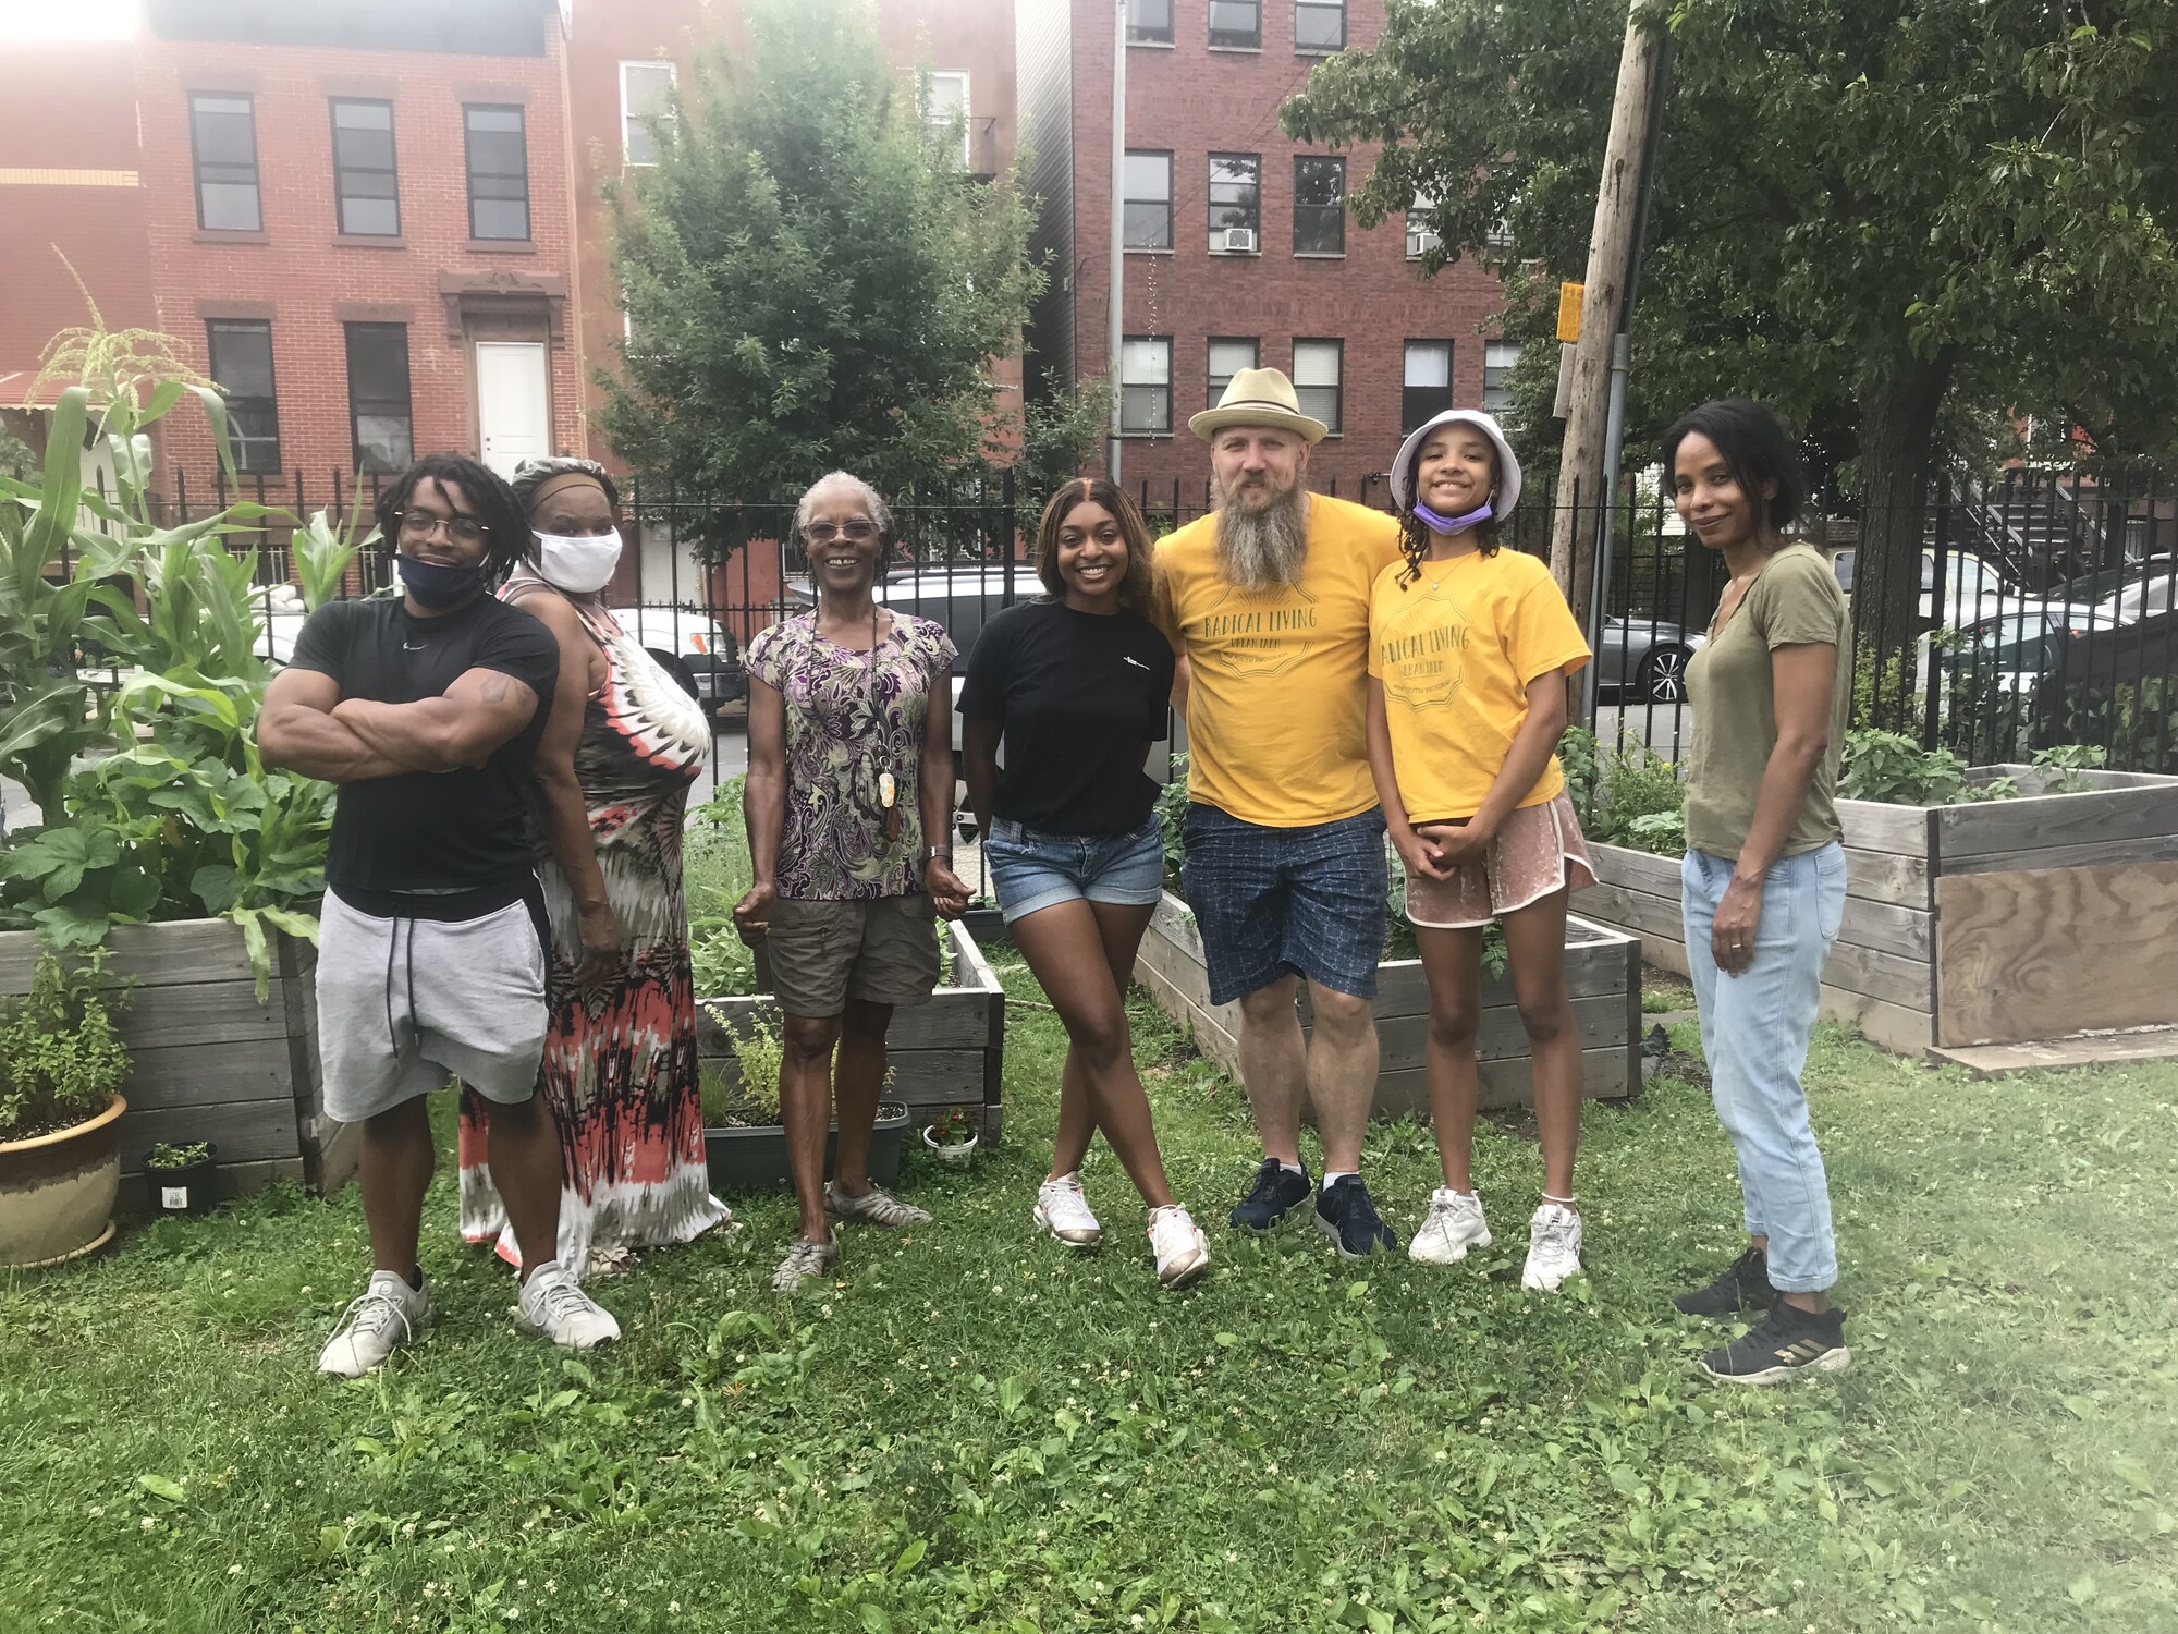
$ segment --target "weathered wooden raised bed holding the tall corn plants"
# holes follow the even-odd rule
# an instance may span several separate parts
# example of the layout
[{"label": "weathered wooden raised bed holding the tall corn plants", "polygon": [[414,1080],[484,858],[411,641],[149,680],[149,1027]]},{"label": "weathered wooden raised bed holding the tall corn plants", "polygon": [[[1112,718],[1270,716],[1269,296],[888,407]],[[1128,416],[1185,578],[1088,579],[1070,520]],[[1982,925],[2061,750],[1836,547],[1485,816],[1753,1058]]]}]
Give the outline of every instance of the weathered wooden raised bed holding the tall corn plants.
[{"label": "weathered wooden raised bed holding the tall corn plants", "polygon": [[[277,935],[264,1004],[229,919],[115,926],[107,950],[109,985],[129,989],[124,1174],[142,1172],[157,1142],[194,1139],[218,1144],[235,1192],[272,1181],[333,1192],[355,1172],[357,1131],[327,1120],[318,1078],[316,948]],[[35,963],[28,930],[0,932],[0,993],[30,991]]]}]

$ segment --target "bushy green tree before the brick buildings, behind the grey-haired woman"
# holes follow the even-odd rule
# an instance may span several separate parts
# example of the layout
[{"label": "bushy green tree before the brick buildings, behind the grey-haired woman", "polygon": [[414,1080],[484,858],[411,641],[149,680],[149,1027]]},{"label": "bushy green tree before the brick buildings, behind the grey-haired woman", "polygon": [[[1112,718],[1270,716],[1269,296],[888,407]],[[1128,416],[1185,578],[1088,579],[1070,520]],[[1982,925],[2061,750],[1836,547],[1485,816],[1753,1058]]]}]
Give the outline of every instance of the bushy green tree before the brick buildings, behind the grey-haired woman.
[{"label": "bushy green tree before the brick buildings, behind the grey-haired woman", "polygon": [[845,466],[943,490],[1006,434],[991,359],[1041,275],[1011,176],[960,172],[862,0],[751,0],[660,163],[608,187],[632,342],[603,425],[640,473],[771,501]]}]

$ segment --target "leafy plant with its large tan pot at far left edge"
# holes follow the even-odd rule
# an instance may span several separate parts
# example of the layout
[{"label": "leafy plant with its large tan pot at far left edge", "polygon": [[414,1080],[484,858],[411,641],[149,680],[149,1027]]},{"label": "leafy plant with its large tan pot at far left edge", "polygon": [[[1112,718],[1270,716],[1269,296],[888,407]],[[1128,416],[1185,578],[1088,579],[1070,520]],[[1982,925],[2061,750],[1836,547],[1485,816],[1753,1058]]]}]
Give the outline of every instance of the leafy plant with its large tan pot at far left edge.
[{"label": "leafy plant with its large tan pot at far left edge", "polygon": [[113,1237],[129,1046],[102,959],[39,954],[0,1020],[0,1266],[52,1266]]}]

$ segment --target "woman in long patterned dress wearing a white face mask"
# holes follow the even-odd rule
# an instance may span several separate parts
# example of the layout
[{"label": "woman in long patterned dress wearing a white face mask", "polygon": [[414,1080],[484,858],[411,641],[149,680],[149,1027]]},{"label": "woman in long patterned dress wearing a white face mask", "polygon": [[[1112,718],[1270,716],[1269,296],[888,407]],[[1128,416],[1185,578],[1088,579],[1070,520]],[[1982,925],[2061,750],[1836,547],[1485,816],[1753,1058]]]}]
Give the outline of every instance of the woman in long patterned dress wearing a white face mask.
[{"label": "woman in long patterned dress wearing a white face mask", "polygon": [[[560,688],[536,756],[553,937],[538,1076],[560,1122],[560,1264],[584,1275],[732,1218],[703,1163],[682,898],[682,815],[710,723],[605,610],[621,553],[605,468],[527,460],[514,490],[534,538],[501,595],[560,638]],[[462,1235],[497,1242],[518,1264],[466,1096],[460,1144]]]}]

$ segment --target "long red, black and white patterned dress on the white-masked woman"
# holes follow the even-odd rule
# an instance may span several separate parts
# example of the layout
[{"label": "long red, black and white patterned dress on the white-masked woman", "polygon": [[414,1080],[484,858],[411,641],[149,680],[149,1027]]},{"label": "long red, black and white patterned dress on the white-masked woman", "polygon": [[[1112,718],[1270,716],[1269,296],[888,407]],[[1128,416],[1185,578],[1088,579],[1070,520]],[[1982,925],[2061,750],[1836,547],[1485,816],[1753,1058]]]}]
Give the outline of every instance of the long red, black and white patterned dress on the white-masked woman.
[{"label": "long red, black and white patterned dress on the white-masked woman", "polygon": [[[531,582],[534,584],[534,582]],[[527,595],[558,590],[525,588]],[[575,745],[590,841],[627,959],[612,987],[575,991],[582,924],[566,874],[534,821],[538,878],[551,915],[544,1000],[551,1031],[538,1081],[560,1124],[560,1264],[575,1277],[592,1251],[688,1242],[732,1218],[710,1194],[697,1092],[695,980],[682,895],[682,817],[710,754],[695,699],[603,608],[573,603],[605,651],[605,684]],[[462,1096],[462,1235],[497,1240],[521,1264],[486,1168],[484,1120]]]}]

